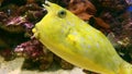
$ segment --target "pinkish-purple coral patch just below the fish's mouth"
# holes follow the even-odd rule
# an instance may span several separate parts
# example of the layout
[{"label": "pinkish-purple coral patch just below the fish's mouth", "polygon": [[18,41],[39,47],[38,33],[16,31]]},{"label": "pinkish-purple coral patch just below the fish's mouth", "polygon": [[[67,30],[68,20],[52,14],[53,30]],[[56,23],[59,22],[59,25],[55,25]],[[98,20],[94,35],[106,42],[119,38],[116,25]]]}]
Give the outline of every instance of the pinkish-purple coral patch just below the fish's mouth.
[{"label": "pinkish-purple coral patch just below the fish's mouth", "polygon": [[38,40],[30,40],[19,45],[14,52],[21,53],[26,58],[37,58],[44,55],[43,45]]}]

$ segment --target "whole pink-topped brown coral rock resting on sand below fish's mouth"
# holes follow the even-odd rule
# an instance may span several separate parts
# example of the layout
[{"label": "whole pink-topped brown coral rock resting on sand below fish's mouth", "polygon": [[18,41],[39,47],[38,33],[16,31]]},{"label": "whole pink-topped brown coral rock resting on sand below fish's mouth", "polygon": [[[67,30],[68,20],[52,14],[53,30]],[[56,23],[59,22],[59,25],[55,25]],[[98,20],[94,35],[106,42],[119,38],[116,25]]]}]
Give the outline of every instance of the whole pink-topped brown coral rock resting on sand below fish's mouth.
[{"label": "whole pink-topped brown coral rock resting on sand below fish's mouth", "polygon": [[25,58],[23,69],[46,70],[53,62],[53,53],[36,39],[19,45],[14,52],[16,57]]}]

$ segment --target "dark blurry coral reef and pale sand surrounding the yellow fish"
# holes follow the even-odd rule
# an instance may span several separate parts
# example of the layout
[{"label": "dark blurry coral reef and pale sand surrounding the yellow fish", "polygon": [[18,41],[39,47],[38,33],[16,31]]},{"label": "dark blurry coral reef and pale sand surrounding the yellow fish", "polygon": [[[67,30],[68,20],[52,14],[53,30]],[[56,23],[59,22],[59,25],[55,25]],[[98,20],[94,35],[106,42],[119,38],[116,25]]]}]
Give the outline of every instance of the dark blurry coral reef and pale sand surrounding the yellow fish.
[{"label": "dark blurry coral reef and pale sand surrounding the yellow fish", "polygon": [[[132,63],[132,0],[48,0],[101,30]],[[75,67],[33,38],[45,0],[0,0],[0,74],[96,74]]]}]

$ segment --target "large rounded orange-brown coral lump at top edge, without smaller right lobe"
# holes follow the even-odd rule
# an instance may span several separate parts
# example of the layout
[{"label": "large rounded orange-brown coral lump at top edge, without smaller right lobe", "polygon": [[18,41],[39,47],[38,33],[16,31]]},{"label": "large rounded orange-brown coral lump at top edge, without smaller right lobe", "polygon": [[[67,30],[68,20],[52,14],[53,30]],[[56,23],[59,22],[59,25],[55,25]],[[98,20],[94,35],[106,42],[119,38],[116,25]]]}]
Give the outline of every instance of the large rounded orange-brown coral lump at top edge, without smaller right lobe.
[{"label": "large rounded orange-brown coral lump at top edge, without smaller right lobe", "polygon": [[89,20],[96,13],[96,8],[88,0],[70,0],[68,10],[81,20]]}]

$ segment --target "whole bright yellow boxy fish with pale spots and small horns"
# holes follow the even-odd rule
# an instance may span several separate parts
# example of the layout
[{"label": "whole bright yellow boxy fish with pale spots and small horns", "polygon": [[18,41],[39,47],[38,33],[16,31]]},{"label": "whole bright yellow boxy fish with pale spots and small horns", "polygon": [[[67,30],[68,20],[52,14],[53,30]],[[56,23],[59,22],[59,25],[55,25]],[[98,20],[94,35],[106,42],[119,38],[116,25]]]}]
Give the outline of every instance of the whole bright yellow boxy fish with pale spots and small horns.
[{"label": "whole bright yellow boxy fish with pale spots and small horns", "polygon": [[33,28],[34,36],[62,59],[101,74],[132,74],[107,37],[59,5],[46,2],[48,13]]}]

